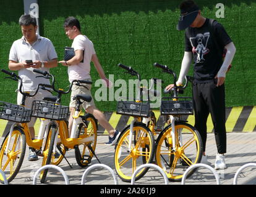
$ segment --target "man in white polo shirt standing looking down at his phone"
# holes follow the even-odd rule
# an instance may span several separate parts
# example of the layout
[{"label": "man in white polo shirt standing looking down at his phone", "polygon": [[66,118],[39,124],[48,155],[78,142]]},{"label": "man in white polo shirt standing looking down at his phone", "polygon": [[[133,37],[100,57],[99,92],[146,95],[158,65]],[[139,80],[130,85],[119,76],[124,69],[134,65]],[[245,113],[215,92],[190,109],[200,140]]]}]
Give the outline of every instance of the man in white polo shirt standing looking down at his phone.
[{"label": "man in white polo shirt standing looking down at his phone", "polygon": [[[22,38],[14,41],[9,54],[9,69],[19,71],[19,76],[22,78],[23,91],[32,92],[38,84],[50,84],[49,79],[36,78],[40,74],[33,72],[33,69],[48,71],[49,68],[58,66],[57,54],[52,42],[48,38],[41,37],[36,33],[38,26],[36,19],[30,15],[22,15],[19,19],[19,24],[22,30]],[[26,63],[26,60],[32,60],[32,63]],[[50,93],[46,90],[39,90],[35,97],[28,97],[25,105],[28,108],[32,107],[32,102],[35,99],[41,99]],[[18,92],[17,103],[22,102],[22,94]],[[36,118],[32,118],[28,127],[32,139],[35,139],[35,124]],[[28,160],[34,161],[38,157],[33,148],[30,148]]]}]

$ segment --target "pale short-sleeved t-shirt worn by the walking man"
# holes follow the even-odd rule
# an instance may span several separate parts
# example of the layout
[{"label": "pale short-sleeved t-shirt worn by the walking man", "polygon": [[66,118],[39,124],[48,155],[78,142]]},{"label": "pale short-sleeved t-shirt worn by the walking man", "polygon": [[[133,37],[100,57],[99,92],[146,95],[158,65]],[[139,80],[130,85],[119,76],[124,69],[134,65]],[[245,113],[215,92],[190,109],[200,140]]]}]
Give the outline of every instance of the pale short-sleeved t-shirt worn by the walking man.
[{"label": "pale short-sleeved t-shirt worn by the walking man", "polygon": [[90,79],[90,62],[92,55],[96,54],[93,47],[93,42],[87,36],[79,34],[75,37],[72,47],[74,50],[84,50],[83,62],[77,65],[68,66],[67,73],[69,74],[69,82],[75,79]]}]

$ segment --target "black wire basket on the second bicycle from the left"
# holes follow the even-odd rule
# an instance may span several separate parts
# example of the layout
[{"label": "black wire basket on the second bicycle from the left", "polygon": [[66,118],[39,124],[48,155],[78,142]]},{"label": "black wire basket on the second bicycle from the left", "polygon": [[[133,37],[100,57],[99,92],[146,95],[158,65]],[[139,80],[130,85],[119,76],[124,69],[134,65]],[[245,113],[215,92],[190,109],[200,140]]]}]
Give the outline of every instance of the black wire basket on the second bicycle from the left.
[{"label": "black wire basket on the second bicycle from the left", "polygon": [[67,119],[68,115],[69,107],[45,100],[33,101],[32,116],[34,117],[54,119],[58,121]]}]

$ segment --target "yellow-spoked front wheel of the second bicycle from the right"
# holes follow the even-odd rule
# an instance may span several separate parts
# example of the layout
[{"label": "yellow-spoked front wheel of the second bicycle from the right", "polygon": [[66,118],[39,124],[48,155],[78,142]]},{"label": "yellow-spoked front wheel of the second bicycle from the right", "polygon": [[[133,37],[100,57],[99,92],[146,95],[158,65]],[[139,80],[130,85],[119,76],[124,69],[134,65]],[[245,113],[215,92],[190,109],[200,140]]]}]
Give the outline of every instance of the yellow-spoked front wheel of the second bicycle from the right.
[{"label": "yellow-spoked front wheel of the second bicycle from the right", "polygon": [[[130,137],[130,126],[127,126],[120,134],[114,151],[114,166],[117,175],[124,182],[130,182],[137,166],[151,163],[155,150],[153,134],[145,124],[134,123],[132,135],[136,137]],[[129,139],[132,139],[130,150]],[[147,171],[148,167],[143,168],[135,180],[139,180]]]}]

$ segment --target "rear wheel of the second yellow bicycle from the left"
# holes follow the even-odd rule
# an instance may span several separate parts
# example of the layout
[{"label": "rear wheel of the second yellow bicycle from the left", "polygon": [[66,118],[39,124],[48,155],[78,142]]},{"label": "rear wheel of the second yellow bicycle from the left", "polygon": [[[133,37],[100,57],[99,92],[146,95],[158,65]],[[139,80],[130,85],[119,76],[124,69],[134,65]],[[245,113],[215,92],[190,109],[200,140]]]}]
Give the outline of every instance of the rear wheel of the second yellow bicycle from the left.
[{"label": "rear wheel of the second yellow bicycle from the left", "polygon": [[86,114],[82,116],[83,123],[79,125],[79,129],[77,130],[76,138],[86,138],[92,137],[93,140],[91,142],[85,142],[80,145],[75,145],[75,159],[77,160],[77,164],[81,167],[88,166],[91,163],[93,158],[93,153],[88,148],[90,146],[93,151],[95,151],[96,143],[97,143],[97,122],[93,115]]}]

